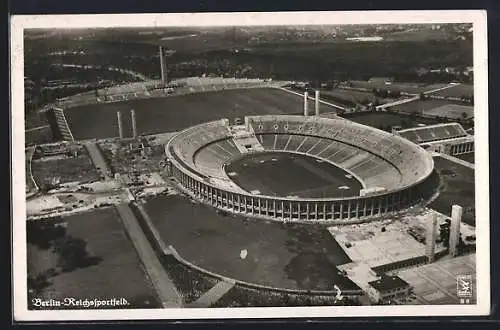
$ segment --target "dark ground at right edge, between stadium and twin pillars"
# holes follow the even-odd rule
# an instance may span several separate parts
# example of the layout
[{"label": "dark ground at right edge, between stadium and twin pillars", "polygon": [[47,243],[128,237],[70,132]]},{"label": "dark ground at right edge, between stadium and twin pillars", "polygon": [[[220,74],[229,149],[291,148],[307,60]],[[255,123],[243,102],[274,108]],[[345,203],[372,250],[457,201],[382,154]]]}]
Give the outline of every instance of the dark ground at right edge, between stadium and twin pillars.
[{"label": "dark ground at right edge, between stadium and twin pillars", "polygon": [[430,204],[434,210],[451,216],[451,206],[463,207],[462,221],[475,225],[474,170],[442,157],[434,157],[441,186],[439,197]]}]

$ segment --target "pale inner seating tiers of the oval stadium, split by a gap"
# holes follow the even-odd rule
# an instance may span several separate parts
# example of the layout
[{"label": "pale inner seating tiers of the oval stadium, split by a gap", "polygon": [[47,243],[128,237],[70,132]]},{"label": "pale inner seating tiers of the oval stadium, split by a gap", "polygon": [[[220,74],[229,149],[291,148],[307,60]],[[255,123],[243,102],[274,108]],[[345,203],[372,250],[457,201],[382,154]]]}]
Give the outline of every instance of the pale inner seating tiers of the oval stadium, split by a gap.
[{"label": "pale inner seating tiers of the oval stadium, split by a gap", "polygon": [[[413,143],[345,120],[258,116],[248,117],[248,124],[264,150],[322,158],[354,174],[365,188],[398,189],[432,171],[432,158]],[[240,151],[227,120],[192,127],[175,139],[174,151],[188,166],[217,180],[230,181],[224,165]]]}]

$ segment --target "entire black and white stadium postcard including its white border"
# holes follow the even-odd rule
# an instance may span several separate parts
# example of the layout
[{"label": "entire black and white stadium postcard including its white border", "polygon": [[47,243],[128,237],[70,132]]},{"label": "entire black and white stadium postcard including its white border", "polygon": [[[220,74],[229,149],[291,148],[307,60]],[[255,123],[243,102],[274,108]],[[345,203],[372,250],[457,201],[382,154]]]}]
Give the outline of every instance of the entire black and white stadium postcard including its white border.
[{"label": "entire black and white stadium postcard including its white border", "polygon": [[15,317],[486,315],[486,35],[479,10],[14,16]]}]

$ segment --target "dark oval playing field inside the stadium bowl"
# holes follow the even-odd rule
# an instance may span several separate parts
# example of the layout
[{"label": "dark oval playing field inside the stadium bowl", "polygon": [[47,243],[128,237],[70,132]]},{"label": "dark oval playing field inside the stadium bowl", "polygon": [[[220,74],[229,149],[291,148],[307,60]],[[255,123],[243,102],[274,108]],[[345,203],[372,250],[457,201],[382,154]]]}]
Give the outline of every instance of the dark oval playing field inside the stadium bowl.
[{"label": "dark oval playing field inside the stadium bowl", "polygon": [[[361,184],[346,171],[327,162],[291,153],[246,155],[226,167],[241,188],[271,196],[359,196]],[[347,176],[346,176],[347,175]],[[339,190],[347,186],[349,190]]]}]

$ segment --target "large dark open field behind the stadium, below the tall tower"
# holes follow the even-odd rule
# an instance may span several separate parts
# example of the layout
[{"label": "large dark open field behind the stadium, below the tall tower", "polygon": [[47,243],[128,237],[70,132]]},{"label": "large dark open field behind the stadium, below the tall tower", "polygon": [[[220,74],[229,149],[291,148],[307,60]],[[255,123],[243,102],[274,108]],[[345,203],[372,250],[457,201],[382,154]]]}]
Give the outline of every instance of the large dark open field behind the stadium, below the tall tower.
[{"label": "large dark open field behind the stadium, below the tall tower", "polygon": [[[245,115],[302,114],[303,99],[279,89],[225,90],[93,104],[68,109],[67,120],[75,139],[118,136],[116,112],[122,112],[125,136],[131,136],[130,109],[134,109],[139,134],[179,131],[220,118]],[[309,102],[314,112],[314,101]],[[322,112],[334,109],[321,105]]]}]

